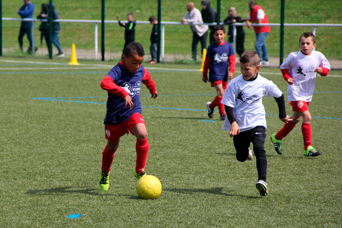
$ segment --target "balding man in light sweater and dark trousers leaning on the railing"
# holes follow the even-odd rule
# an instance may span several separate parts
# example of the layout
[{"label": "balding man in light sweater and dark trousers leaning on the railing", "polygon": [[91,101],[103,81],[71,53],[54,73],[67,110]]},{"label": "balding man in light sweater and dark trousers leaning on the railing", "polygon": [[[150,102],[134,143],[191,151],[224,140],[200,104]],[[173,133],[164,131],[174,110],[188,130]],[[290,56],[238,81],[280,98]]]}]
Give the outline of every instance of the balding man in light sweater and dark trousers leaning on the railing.
[{"label": "balding man in light sweater and dark trousers leaning on the railing", "polygon": [[193,31],[193,41],[192,41],[192,61],[196,61],[197,55],[197,44],[201,41],[202,53],[203,49],[207,48],[207,36],[208,36],[208,25],[194,25],[197,23],[203,23],[201,12],[195,8],[193,2],[189,2],[186,5],[187,12],[182,18],[181,22],[187,22]]}]

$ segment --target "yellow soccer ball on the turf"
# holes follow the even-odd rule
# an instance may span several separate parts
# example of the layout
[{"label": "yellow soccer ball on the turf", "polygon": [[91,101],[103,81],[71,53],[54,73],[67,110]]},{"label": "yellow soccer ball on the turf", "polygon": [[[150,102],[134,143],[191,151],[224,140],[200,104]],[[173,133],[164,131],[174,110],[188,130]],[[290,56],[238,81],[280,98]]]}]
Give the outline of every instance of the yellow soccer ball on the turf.
[{"label": "yellow soccer ball on the turf", "polygon": [[145,175],[140,178],[135,187],[138,196],[147,200],[157,199],[161,193],[160,180],[152,175]]}]

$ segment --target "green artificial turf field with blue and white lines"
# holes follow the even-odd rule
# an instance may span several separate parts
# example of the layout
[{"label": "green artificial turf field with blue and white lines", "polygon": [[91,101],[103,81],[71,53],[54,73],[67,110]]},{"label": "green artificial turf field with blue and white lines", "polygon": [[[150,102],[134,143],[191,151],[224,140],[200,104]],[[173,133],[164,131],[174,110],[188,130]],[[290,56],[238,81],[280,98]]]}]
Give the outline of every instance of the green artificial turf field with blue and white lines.
[{"label": "green artificial turf field with blue and white lines", "polygon": [[[255,158],[238,162],[219,113],[208,118],[215,90],[201,81],[199,65],[143,64],[159,94],[152,99],[142,86],[145,170],[163,191],[142,200],[132,135],[121,137],[109,190],[98,186],[107,99],[100,82],[117,61],[67,63],[0,58],[0,227],[342,227],[341,71],[316,78],[309,107],[318,157],[303,157],[301,122],[284,139],[287,157],[275,152],[269,136],[283,123],[274,98],[264,97],[268,195],[261,197]],[[287,92],[279,69],[262,67],[260,75]],[[286,109],[291,115],[287,99]]]}]

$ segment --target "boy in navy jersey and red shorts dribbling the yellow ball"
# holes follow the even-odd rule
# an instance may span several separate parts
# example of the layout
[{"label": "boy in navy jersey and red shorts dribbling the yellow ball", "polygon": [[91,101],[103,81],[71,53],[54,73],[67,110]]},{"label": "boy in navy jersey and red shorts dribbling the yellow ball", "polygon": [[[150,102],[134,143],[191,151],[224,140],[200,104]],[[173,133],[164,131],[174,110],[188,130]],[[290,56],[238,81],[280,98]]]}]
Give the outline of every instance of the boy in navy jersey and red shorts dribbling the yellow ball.
[{"label": "boy in navy jersey and red shorts dribbling the yellow ball", "polygon": [[101,88],[108,91],[107,112],[104,120],[105,137],[108,140],[102,153],[100,188],[109,188],[110,166],[119,146],[120,137],[131,132],[136,137],[135,177],[145,173],[149,144],[140,103],[141,83],[145,84],[152,98],[158,93],[148,71],[141,65],[144,48],[139,42],[127,45],[123,60],[114,66],[101,81]]}]

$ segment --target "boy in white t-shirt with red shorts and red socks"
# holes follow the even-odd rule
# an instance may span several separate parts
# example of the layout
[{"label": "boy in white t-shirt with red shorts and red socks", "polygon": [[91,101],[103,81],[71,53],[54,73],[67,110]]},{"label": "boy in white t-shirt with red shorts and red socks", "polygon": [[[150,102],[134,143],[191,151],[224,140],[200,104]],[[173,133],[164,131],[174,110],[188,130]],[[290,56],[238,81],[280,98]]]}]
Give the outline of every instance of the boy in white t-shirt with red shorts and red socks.
[{"label": "boy in white t-shirt with red shorts and red socks", "polygon": [[303,117],[304,156],[315,157],[322,154],[311,143],[311,114],[308,105],[315,89],[316,74],[327,76],[330,64],[322,53],[313,50],[315,46],[315,36],[311,32],[303,33],[299,38],[301,50],[290,53],[280,66],[284,79],[289,83],[287,97],[293,110],[291,117],[293,120],[286,123],[277,134],[271,136],[275,150],[280,155],[283,153],[281,139],[290,133],[301,117]]}]

